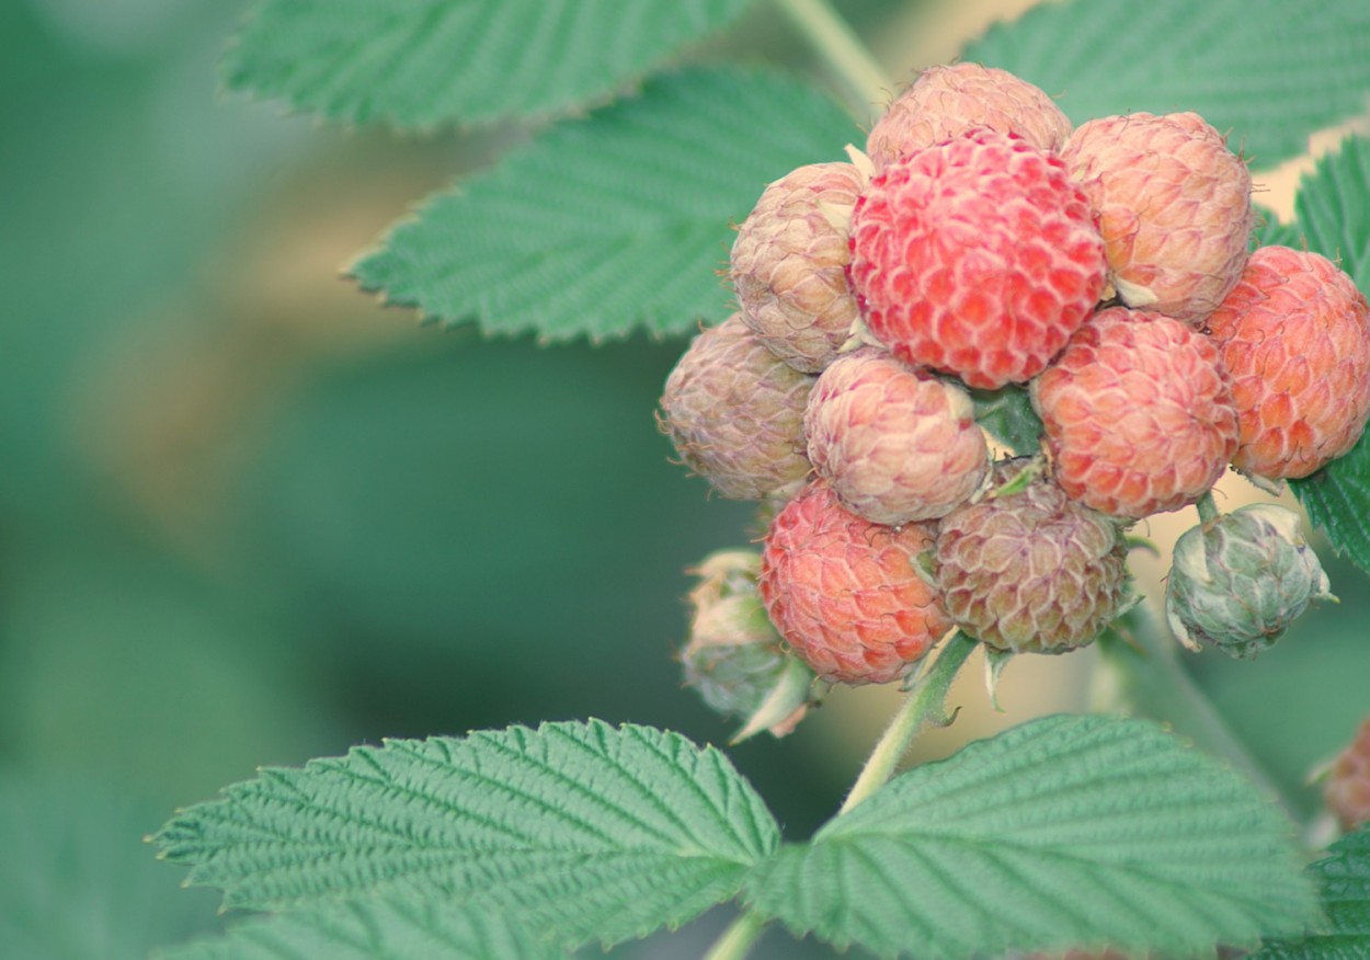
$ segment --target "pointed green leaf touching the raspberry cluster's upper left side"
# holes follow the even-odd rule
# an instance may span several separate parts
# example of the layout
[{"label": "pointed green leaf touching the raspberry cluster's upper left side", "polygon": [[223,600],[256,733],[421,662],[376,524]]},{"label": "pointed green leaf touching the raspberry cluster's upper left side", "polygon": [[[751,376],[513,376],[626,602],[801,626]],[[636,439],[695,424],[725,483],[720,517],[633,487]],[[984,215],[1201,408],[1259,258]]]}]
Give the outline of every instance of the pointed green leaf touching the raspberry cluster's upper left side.
[{"label": "pointed green leaf touching the raspberry cluster's upper left side", "polygon": [[390,303],[545,340],[686,333],[726,315],[718,279],[771,179],[841,159],[856,130],[815,89],[692,70],[562,123],[419,211],[353,274]]}]

